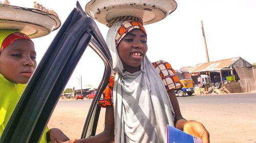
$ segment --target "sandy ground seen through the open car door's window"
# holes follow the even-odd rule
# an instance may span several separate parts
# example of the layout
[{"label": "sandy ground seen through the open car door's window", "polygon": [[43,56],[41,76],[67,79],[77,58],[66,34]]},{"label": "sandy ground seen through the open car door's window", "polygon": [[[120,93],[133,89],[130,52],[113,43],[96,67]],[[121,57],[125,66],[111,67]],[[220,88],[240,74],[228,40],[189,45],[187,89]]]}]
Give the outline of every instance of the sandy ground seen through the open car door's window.
[{"label": "sandy ground seen through the open car door's window", "polygon": [[[74,99],[60,99],[60,101],[65,102],[72,100]],[[84,100],[92,101],[92,99],[86,98],[84,98]],[[77,100],[76,102],[79,103],[82,102],[82,100]],[[48,123],[48,127],[61,129],[71,139],[81,138],[82,129],[90,105],[91,104],[88,104],[86,108],[82,108],[80,104],[68,104],[68,106],[57,104]],[[105,109],[101,108],[96,134],[104,129],[104,113]]]}]

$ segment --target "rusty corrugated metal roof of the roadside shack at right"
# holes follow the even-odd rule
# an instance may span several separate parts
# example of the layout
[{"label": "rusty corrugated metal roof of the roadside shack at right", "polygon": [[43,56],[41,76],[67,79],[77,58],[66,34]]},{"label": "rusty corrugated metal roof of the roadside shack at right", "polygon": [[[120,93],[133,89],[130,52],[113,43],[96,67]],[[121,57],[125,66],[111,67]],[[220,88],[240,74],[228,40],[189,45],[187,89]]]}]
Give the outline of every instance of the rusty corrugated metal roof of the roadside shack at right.
[{"label": "rusty corrugated metal roof of the roadside shack at right", "polygon": [[241,57],[236,57],[236,58],[219,60],[219,61],[214,61],[214,62],[209,62],[209,63],[197,64],[195,67],[190,68],[188,71],[190,73],[196,73],[196,72],[207,71],[207,69],[229,68],[233,63],[237,62],[239,59],[242,59],[242,58]]}]

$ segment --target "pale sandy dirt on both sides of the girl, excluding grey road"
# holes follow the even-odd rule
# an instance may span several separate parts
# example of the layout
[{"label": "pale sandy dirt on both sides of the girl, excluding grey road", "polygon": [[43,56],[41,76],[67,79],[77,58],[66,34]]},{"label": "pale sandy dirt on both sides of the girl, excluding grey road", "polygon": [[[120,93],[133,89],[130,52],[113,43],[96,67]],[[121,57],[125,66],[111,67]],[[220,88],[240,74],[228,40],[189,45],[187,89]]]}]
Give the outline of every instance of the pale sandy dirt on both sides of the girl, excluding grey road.
[{"label": "pale sandy dirt on both sides of the girl, excluding grey road", "polygon": [[[200,93],[196,96],[200,96]],[[60,100],[66,100],[68,103],[72,99]],[[72,107],[57,105],[49,121],[49,128],[59,128],[71,139],[80,138],[89,108],[80,109],[81,107],[79,107],[78,103],[84,103],[84,101],[76,101],[75,105],[72,105]],[[214,106],[205,104],[203,105],[204,108],[202,108],[202,105],[195,105],[193,103],[180,106],[182,115],[186,117],[187,120],[196,120],[205,125],[210,132],[210,141],[213,143],[256,143],[256,113],[253,110],[249,110],[255,109],[255,104],[242,105],[245,106],[247,110],[243,115],[236,113],[241,110],[241,105],[237,106],[228,103]],[[191,106],[193,106],[193,108],[191,108]],[[230,108],[232,110],[230,110]],[[102,108],[97,133],[101,132],[104,128],[104,112],[105,110]],[[196,112],[200,114],[195,115]],[[230,125],[227,123],[230,123]],[[232,126],[232,128],[230,128],[230,126]]]}]

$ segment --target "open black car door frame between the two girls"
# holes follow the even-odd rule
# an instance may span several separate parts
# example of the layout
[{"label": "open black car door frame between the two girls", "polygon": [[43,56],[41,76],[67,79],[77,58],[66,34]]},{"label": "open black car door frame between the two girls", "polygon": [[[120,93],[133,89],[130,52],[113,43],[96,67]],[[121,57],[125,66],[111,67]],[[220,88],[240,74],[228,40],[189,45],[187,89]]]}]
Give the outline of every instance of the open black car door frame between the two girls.
[{"label": "open black car door frame between the two girls", "polygon": [[96,104],[108,84],[112,59],[96,23],[77,2],[77,8],[62,24],[20,98],[0,138],[1,143],[39,141],[61,92],[88,46],[100,56],[105,65],[81,137],[95,135],[100,111],[100,106]]}]

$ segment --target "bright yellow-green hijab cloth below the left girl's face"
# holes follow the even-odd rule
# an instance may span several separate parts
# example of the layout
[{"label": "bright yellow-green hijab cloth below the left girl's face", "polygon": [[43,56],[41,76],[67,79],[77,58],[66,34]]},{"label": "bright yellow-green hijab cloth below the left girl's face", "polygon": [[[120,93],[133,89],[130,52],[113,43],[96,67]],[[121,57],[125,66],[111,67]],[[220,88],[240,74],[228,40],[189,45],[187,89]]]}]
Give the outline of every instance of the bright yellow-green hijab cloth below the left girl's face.
[{"label": "bright yellow-green hijab cloth below the left girl's face", "polygon": [[[27,84],[15,84],[0,74],[0,137],[26,86]],[[47,142],[46,132],[48,130],[48,127],[46,127],[46,130],[41,137],[40,143]]]}]

